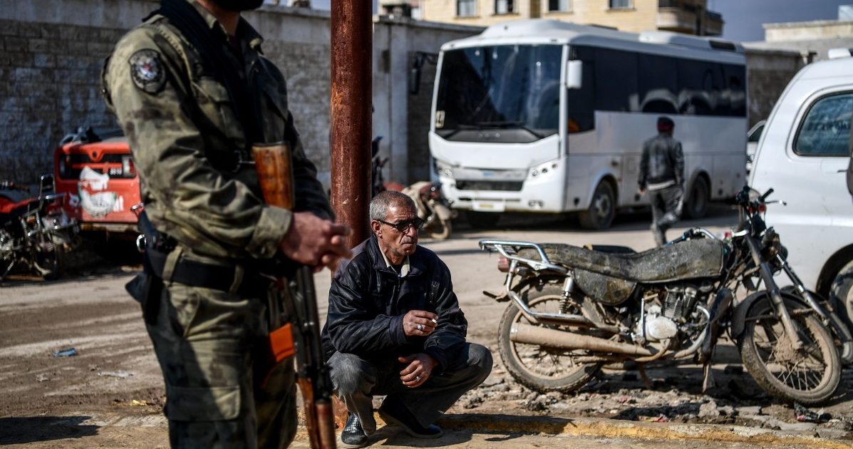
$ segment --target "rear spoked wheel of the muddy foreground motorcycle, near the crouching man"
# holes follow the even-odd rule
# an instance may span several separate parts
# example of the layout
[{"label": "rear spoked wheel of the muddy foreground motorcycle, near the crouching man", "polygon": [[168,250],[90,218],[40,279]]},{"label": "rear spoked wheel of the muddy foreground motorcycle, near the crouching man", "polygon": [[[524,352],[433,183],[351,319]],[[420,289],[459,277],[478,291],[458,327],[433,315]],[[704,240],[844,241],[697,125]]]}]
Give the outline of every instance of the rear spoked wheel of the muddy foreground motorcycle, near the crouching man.
[{"label": "rear spoked wheel of the muddy foreground motorcycle, near the crouching man", "polygon": [[[560,300],[563,295],[562,283],[545,283],[541,288],[538,284],[531,284],[524,287],[520,295],[533,311],[557,313],[560,312]],[[589,301],[574,304],[579,310],[572,313],[581,313],[593,321],[600,319],[595,305]],[[498,329],[498,348],[504,366],[515,380],[525,387],[543,393],[568,393],[583,387],[601,370],[601,362],[577,364],[572,360],[574,356],[590,355],[589,353],[511,341],[510,333],[516,323],[531,324],[519,307],[510,302],[506,312],[503,312]],[[548,324],[546,327],[566,330],[566,326]]]}]

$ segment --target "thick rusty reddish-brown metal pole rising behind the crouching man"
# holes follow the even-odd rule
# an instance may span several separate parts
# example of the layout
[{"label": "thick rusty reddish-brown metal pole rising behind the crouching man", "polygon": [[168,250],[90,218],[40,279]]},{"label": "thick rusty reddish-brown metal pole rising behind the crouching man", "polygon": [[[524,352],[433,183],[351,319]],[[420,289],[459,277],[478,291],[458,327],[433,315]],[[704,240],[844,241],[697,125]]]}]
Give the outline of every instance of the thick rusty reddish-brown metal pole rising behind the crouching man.
[{"label": "thick rusty reddish-brown metal pole rising behind the crouching man", "polygon": [[372,15],[371,2],[332,0],[332,209],[352,228],[350,247],[369,232]]}]

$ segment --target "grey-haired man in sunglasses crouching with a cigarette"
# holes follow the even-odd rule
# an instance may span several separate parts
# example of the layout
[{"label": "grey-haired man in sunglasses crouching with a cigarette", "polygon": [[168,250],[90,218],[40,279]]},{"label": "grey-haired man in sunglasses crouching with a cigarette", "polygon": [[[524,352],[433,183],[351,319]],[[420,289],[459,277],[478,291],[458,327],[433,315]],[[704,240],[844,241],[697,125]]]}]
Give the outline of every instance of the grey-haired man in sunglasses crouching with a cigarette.
[{"label": "grey-haired man in sunglasses crouching with a cigarette", "polygon": [[370,202],[371,236],[335,273],[323,344],[335,394],[349,417],[345,447],[362,447],[379,414],[417,438],[438,438],[434,423],[491,371],[491,353],[465,341],[467,321],[450,271],[418,246],[423,224],[407,195],[385,191]]}]

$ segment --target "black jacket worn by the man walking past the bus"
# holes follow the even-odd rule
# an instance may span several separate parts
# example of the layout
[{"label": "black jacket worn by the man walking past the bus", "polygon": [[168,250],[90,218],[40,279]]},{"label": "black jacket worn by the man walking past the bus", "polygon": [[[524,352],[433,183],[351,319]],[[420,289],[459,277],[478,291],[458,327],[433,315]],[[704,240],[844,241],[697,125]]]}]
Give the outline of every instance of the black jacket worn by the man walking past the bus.
[{"label": "black jacket worn by the man walking past the bus", "polygon": [[676,185],[683,185],[682,143],[665,132],[643,143],[638,181],[641,189],[645,189],[647,184],[660,184],[667,181],[675,181]]}]

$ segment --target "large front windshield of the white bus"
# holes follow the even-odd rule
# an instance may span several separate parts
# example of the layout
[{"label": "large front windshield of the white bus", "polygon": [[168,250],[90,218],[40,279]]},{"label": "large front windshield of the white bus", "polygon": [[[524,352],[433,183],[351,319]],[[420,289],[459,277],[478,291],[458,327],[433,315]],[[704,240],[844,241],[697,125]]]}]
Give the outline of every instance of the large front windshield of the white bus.
[{"label": "large front windshield of the white bus", "polygon": [[435,131],[457,142],[531,143],[560,123],[560,45],[444,52]]}]

